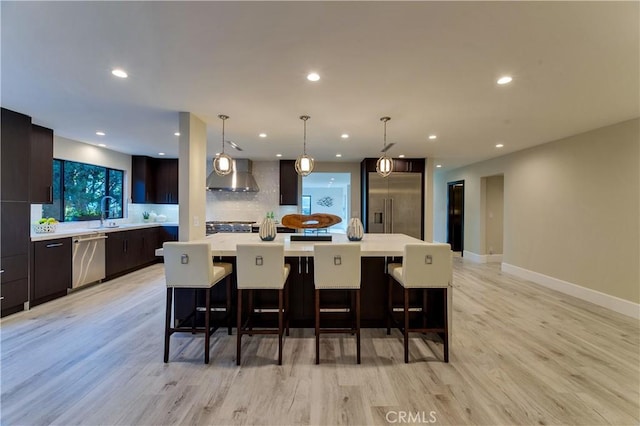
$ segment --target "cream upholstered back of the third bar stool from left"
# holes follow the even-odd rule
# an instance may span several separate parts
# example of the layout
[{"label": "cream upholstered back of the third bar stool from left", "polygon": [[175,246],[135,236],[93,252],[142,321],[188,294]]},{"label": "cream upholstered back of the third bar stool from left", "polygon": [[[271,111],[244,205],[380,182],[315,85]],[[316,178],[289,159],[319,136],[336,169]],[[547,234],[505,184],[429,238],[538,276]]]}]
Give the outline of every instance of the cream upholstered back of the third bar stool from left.
[{"label": "cream upholstered back of the third bar stool from left", "polygon": [[313,264],[317,289],[360,288],[360,244],[316,244]]}]

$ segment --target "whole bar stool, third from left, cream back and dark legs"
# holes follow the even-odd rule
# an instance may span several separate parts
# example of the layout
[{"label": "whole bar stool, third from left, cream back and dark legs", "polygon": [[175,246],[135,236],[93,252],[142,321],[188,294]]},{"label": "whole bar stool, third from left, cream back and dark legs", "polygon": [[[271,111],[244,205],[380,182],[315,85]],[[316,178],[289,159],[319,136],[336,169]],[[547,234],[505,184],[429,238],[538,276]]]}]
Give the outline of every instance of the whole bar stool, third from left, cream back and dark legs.
[{"label": "whole bar stool, third from left, cream back and dark legs", "polygon": [[[320,333],[355,333],[356,363],[360,364],[360,244],[313,246],[316,288],[316,364],[320,364]],[[320,290],[351,290],[356,299],[355,327],[320,328]]]}]

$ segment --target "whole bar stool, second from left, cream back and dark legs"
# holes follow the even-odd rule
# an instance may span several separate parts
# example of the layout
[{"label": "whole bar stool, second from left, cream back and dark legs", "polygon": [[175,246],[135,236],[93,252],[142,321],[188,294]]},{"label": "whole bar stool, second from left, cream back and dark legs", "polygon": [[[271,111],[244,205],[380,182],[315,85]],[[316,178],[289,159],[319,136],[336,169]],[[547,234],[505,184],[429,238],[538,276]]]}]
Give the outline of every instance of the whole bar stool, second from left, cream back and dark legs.
[{"label": "whole bar stool, second from left, cream back and dark legs", "polygon": [[[240,365],[242,336],[244,334],[277,334],[278,365],[282,365],[282,335],[286,321],[289,335],[289,289],[287,278],[291,267],[284,263],[284,245],[273,243],[238,244],[236,266],[238,268],[238,347],[236,364]],[[242,295],[249,292],[249,313],[242,323]],[[278,292],[278,328],[253,329],[251,319],[254,314],[254,290],[277,290]],[[286,298],[286,300],[285,300]]]}]

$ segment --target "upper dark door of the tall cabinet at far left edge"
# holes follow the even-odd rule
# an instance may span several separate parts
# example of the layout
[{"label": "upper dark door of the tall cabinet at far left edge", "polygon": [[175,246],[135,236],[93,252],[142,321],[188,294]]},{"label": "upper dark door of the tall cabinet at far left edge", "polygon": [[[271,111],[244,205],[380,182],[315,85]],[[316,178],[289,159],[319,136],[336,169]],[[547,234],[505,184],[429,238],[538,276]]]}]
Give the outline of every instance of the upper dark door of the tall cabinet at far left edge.
[{"label": "upper dark door of the tall cabinet at far left edge", "polygon": [[29,201],[31,117],[2,108],[0,125],[0,196],[6,201]]}]

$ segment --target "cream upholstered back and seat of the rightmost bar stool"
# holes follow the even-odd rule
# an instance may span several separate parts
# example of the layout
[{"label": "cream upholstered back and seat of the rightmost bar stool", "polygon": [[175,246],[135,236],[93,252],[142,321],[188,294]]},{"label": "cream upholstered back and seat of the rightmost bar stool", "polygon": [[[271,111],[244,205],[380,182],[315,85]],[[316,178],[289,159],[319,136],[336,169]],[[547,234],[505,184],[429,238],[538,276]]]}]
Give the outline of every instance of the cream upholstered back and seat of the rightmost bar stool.
[{"label": "cream upholstered back and seat of the rightmost bar stool", "polygon": [[449,244],[407,244],[402,268],[392,275],[407,288],[437,288],[451,285],[453,264]]}]

